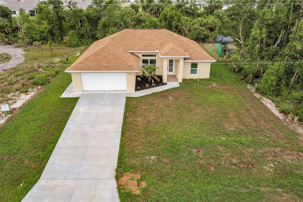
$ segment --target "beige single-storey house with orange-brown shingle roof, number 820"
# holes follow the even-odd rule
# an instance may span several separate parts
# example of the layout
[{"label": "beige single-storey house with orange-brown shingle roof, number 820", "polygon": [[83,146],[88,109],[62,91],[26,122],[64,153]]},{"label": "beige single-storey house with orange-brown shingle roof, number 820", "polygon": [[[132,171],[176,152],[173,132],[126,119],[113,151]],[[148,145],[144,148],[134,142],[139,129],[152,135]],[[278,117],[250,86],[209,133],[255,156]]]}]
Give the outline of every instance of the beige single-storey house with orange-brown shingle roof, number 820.
[{"label": "beige single-storey house with orange-brown shingle roof, number 820", "polygon": [[166,29],[124,29],[94,42],[65,72],[75,92],[135,91],[142,65],[157,66],[163,82],[209,78],[215,62],[197,42]]}]

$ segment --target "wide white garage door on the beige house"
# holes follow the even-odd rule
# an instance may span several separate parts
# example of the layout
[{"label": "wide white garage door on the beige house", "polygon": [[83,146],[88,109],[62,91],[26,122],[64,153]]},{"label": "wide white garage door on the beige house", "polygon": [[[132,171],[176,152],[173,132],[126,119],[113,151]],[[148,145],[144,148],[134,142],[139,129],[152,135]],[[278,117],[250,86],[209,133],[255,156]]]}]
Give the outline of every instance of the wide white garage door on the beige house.
[{"label": "wide white garage door on the beige house", "polygon": [[82,90],[126,90],[126,73],[81,73]]}]

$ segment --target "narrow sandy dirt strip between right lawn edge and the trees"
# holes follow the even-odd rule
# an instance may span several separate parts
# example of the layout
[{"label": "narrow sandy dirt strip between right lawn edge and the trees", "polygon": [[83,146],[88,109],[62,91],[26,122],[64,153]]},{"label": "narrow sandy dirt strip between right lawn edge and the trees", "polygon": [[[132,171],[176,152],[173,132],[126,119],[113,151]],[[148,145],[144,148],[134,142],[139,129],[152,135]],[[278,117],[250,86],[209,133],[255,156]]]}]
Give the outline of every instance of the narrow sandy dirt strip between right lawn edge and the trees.
[{"label": "narrow sandy dirt strip between right lawn edge and the trees", "polygon": [[276,116],[278,116],[279,119],[281,119],[285,125],[287,125],[292,130],[295,130],[300,135],[303,135],[303,128],[300,125],[288,120],[288,117],[284,113],[280,112],[279,107],[276,107],[275,103],[273,103],[271,101],[271,99],[267,99],[267,98],[261,96],[259,93],[256,93],[255,88],[252,87],[251,85],[248,84],[247,87],[248,87],[248,89],[251,90],[251,92],[254,94],[254,96],[256,96],[257,98],[260,98],[261,102],[265,106],[267,106]]}]

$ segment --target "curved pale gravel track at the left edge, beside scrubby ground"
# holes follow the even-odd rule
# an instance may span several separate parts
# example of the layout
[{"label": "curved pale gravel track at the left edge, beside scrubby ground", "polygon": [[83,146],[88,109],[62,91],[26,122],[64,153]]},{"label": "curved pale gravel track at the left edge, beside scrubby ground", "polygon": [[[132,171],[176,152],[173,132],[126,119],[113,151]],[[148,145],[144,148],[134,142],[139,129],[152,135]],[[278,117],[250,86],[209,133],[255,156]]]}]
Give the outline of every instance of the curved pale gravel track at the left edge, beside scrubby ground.
[{"label": "curved pale gravel track at the left edge, beside scrubby ground", "polygon": [[0,53],[7,52],[12,56],[12,59],[2,65],[0,65],[0,70],[8,69],[18,65],[24,61],[25,52],[21,48],[15,47],[15,45],[2,45],[0,46]]}]

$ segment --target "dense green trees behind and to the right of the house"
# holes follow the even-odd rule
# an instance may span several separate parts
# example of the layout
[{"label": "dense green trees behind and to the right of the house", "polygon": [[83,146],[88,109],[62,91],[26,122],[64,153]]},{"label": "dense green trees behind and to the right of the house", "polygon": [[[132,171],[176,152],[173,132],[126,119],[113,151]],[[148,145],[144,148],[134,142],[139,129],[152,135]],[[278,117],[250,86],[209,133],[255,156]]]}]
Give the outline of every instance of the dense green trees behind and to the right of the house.
[{"label": "dense green trees behind and to the right of the house", "polygon": [[85,10],[72,1],[67,8],[63,3],[39,2],[35,19],[24,12],[12,18],[1,6],[1,37],[26,45],[52,40],[76,47],[127,28],[165,28],[197,42],[213,42],[216,34],[231,36],[238,49],[230,68],[290,118],[303,120],[300,0],[208,0],[204,6],[195,0],[174,5],[171,0],[141,0],[126,7],[117,0],[92,0]]}]

